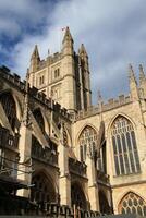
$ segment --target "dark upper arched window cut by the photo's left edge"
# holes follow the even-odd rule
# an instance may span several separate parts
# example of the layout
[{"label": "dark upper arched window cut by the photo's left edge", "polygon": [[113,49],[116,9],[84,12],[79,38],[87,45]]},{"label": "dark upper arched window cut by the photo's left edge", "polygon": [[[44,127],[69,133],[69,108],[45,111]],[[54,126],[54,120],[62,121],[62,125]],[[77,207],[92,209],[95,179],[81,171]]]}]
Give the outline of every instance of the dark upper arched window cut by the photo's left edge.
[{"label": "dark upper arched window cut by the photo's left edge", "polygon": [[0,96],[0,101],[2,104],[5,114],[8,117],[10,125],[11,125],[12,130],[14,131],[15,122],[16,122],[15,101],[10,93],[7,93],[7,94]]}]

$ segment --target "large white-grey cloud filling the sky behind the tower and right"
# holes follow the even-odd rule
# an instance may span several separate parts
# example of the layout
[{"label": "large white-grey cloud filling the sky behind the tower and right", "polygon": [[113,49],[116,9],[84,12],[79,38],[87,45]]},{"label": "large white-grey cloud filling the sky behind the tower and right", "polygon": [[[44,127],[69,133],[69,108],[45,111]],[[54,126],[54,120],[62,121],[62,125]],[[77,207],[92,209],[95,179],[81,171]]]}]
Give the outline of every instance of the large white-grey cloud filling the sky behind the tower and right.
[{"label": "large white-grey cloud filling the sky behind the tower and right", "polygon": [[94,94],[97,92],[97,86],[106,97],[127,89],[127,63],[134,62],[136,65],[138,62],[144,62],[146,57],[144,0],[58,1],[54,9],[48,13],[49,8],[45,9],[45,4],[39,1],[34,3],[33,9],[29,2],[17,0],[17,5],[13,9],[15,14],[27,16],[27,20],[34,22],[33,25],[36,25],[39,19],[46,17],[46,26],[42,33],[26,34],[15,45],[11,58],[17,73],[26,72],[35,44],[38,44],[42,58],[47,56],[48,48],[51,52],[58,51],[61,27],[69,25],[76,50],[81,43],[85,43],[89,53]]}]

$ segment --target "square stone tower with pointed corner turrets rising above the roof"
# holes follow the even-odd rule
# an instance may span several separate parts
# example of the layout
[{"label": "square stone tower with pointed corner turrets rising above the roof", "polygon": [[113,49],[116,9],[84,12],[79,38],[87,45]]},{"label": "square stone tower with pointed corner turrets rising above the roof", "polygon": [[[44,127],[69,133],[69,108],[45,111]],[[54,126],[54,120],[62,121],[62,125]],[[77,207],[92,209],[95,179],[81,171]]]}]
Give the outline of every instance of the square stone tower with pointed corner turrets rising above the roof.
[{"label": "square stone tower with pointed corner turrets rising above the roof", "polygon": [[31,58],[29,84],[70,112],[87,109],[92,101],[88,56],[84,45],[78,53],[70,28],[65,28],[61,52],[40,60],[37,46]]}]

